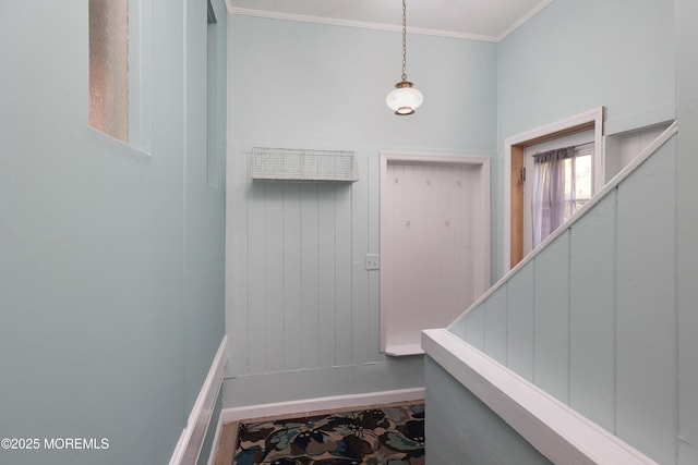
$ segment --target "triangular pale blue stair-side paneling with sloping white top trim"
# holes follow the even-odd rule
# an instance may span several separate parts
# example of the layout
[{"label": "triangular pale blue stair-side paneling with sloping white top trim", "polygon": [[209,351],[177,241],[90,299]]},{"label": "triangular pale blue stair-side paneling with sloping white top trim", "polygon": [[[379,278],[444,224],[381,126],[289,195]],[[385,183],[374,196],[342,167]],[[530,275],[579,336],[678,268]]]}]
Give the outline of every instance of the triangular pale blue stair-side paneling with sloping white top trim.
[{"label": "triangular pale blue stair-side paneling with sloping white top trim", "polygon": [[674,463],[678,435],[677,132],[448,328],[658,463]]}]

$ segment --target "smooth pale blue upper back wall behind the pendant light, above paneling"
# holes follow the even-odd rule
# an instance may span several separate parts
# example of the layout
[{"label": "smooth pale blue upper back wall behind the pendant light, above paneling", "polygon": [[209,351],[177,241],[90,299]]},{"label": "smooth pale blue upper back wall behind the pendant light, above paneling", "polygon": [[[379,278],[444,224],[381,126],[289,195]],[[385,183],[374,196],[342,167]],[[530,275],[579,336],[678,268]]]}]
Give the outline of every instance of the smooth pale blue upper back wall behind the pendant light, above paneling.
[{"label": "smooth pale blue upper back wall behind the pendant light, above paneling", "polygon": [[416,114],[396,118],[385,96],[400,79],[399,34],[232,21],[231,117],[240,143],[495,148],[494,44],[408,35],[408,78],[425,97]]}]

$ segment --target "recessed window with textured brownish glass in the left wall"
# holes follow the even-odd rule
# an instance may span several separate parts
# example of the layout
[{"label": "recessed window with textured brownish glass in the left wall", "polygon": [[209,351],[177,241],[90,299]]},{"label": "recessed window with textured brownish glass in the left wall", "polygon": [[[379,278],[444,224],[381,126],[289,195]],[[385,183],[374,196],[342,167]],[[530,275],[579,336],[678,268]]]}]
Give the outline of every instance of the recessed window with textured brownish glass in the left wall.
[{"label": "recessed window with textured brownish glass in the left wall", "polygon": [[149,147],[149,4],[89,0],[89,125]]}]

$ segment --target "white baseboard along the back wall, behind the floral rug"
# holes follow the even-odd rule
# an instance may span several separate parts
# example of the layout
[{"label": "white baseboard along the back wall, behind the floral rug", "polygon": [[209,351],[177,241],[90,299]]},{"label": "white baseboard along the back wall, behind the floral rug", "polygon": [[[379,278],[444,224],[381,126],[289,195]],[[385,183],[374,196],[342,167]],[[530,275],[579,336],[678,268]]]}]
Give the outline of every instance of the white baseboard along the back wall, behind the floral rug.
[{"label": "white baseboard along the back wall, behind the floral rug", "polygon": [[336,395],[330,397],[305,399],[301,401],[278,402],[273,404],[250,405],[244,407],[224,408],[220,412],[220,424],[250,418],[262,418],[279,415],[304,414],[316,411],[328,411],[344,407],[363,407],[394,402],[421,401],[424,388],[401,389],[396,391],[370,392],[364,394]]}]

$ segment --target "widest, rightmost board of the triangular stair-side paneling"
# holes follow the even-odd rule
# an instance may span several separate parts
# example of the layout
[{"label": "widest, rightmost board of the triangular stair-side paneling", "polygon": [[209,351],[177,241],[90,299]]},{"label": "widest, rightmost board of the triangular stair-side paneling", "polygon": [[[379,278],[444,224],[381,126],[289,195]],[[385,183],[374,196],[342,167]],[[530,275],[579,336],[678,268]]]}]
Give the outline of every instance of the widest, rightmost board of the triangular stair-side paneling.
[{"label": "widest, rightmost board of the triangular stair-side paneling", "polygon": [[677,436],[675,161],[670,142],[618,187],[616,431],[660,463]]}]

